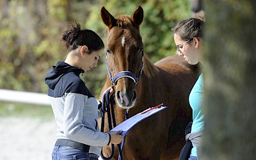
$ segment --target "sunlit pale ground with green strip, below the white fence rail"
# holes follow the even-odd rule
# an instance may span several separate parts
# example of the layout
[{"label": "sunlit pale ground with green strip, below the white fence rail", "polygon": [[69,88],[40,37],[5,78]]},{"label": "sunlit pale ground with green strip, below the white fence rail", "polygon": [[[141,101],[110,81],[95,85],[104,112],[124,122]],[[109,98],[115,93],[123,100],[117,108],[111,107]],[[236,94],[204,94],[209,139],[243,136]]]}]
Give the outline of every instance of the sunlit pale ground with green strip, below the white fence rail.
[{"label": "sunlit pale ground with green strip, below the white fence rail", "polygon": [[0,159],[51,159],[56,129],[51,106],[0,102]]}]

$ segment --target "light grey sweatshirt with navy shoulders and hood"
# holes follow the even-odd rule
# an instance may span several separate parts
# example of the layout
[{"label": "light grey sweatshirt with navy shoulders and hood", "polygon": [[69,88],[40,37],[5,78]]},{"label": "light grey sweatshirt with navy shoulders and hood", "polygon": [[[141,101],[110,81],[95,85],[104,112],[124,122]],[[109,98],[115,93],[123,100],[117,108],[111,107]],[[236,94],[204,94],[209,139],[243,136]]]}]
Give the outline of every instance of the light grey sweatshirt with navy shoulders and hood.
[{"label": "light grey sweatshirt with navy shoulders and hood", "polygon": [[59,61],[45,77],[48,96],[58,124],[58,139],[90,145],[90,153],[100,156],[109,134],[99,131],[98,102],[79,77],[84,71]]}]

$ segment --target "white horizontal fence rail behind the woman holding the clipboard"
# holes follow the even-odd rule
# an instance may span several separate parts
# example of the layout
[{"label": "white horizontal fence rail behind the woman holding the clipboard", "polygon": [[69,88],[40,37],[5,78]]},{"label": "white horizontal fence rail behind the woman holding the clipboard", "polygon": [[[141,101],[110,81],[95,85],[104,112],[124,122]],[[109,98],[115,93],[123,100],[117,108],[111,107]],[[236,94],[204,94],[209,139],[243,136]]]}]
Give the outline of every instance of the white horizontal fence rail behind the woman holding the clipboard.
[{"label": "white horizontal fence rail behind the woman holding the clipboard", "polygon": [[0,101],[51,105],[47,94],[0,89]]}]

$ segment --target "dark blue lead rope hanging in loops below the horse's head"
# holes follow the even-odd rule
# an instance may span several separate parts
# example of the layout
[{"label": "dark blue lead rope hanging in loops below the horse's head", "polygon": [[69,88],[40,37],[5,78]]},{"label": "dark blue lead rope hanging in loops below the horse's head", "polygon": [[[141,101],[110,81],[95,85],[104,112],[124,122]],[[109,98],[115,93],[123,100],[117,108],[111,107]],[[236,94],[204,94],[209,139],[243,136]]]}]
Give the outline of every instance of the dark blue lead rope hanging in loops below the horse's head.
[{"label": "dark blue lead rope hanging in loops below the horse's head", "polygon": [[[113,127],[116,127],[115,111],[114,111],[114,105],[115,105],[114,97],[111,96],[108,99],[108,95],[109,95],[109,90],[107,90],[102,97],[102,108],[101,108],[102,109],[102,122],[101,122],[101,129],[100,129],[101,132],[104,132],[105,113],[106,112],[108,114],[109,131],[111,131],[111,129],[112,129],[111,121],[113,121]],[[105,108],[105,102],[106,102],[106,108]],[[111,114],[110,114],[110,112],[111,112]],[[112,115],[112,120],[111,120],[111,115]],[[127,120],[128,118],[129,118],[129,113],[128,113],[128,111],[126,111],[125,112],[125,120]],[[118,155],[119,160],[123,160],[124,143],[125,143],[125,136],[122,140],[121,145],[120,144],[117,145],[118,152],[119,152],[119,155]],[[114,144],[111,144],[111,155],[109,157],[105,157],[101,150],[100,156],[102,157],[102,159],[107,159],[107,160],[112,159],[114,156],[114,150],[115,150]]]}]

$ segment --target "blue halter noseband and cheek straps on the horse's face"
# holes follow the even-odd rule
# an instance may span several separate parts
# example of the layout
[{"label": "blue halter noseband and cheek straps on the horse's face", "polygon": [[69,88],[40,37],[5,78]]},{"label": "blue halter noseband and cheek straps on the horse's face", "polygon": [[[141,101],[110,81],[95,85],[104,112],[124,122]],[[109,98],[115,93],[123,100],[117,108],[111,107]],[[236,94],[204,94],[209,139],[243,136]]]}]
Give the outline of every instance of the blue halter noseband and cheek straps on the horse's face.
[{"label": "blue halter noseband and cheek straps on the horse's face", "polygon": [[140,69],[140,73],[139,73],[138,77],[136,77],[135,74],[133,74],[130,71],[121,71],[118,74],[116,74],[116,76],[114,76],[114,78],[112,78],[111,72],[109,71],[109,68],[108,68],[107,53],[106,53],[106,67],[107,67],[107,70],[108,70],[109,79],[111,81],[111,88],[113,88],[114,84],[118,81],[118,79],[120,79],[122,77],[131,78],[134,81],[135,85],[137,85],[137,83],[138,83],[138,81],[140,79],[143,67],[144,67],[144,63],[143,63],[143,60],[142,60],[142,65],[141,65],[141,69]]}]

